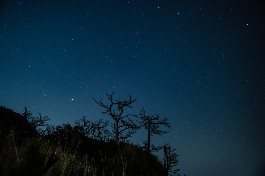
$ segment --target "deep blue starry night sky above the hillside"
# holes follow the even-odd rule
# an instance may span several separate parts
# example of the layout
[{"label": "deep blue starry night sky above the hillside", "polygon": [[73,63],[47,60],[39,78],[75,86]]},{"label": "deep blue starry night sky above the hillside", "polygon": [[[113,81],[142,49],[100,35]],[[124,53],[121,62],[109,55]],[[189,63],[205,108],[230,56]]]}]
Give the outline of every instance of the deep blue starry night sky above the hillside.
[{"label": "deep blue starry night sky above the hillside", "polygon": [[[93,97],[108,104],[106,92],[121,100],[133,95],[135,114],[144,108],[169,118],[171,132],[151,143],[178,148],[181,175],[264,173],[259,1],[8,0],[0,6],[0,105],[40,111],[49,124],[74,124],[82,116],[112,122]],[[145,129],[130,140],[142,139]]]}]

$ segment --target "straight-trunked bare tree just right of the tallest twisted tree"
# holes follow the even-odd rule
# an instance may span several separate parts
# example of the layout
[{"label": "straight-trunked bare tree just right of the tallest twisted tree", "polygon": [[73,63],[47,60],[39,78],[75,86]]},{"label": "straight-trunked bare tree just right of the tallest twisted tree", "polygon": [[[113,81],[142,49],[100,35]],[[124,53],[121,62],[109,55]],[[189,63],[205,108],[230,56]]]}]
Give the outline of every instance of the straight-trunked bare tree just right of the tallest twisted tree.
[{"label": "straight-trunked bare tree just right of the tallest twisted tree", "polygon": [[[161,119],[158,114],[156,115],[145,115],[144,109],[141,110],[142,113],[140,113],[140,119],[141,121],[138,121],[140,123],[140,126],[144,127],[145,129],[148,130],[148,138],[147,138],[147,151],[150,152],[150,147],[151,151],[157,151],[156,147],[154,145],[150,145],[150,138],[151,135],[153,134],[158,134],[159,136],[162,136],[163,134],[167,134],[170,131],[164,131],[158,129],[160,125],[165,125],[166,127],[170,128],[170,123],[168,122],[168,118],[164,117],[164,119]],[[146,141],[144,142],[146,144]]]}]

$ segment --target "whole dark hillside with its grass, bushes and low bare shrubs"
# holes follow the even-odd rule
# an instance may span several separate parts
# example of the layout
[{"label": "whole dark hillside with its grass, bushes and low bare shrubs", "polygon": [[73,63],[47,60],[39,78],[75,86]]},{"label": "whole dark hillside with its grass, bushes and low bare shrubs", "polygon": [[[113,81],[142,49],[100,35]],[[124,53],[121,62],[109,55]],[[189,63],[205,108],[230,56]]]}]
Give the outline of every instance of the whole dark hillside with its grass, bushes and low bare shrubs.
[{"label": "whole dark hillside with its grass, bushes and low bare shrubs", "polygon": [[[131,97],[130,97],[131,98]],[[167,175],[164,164],[144,147],[119,141],[105,127],[82,117],[75,125],[48,125],[48,117],[33,117],[0,106],[0,175],[43,176],[160,176]],[[115,131],[114,131],[115,132]],[[174,150],[165,145],[169,156]],[[166,156],[166,155],[165,155]],[[165,158],[166,163],[168,162]],[[172,158],[171,158],[172,159]],[[172,160],[177,161],[176,158]],[[172,164],[166,167],[172,169]],[[178,171],[174,170],[174,171]],[[171,174],[176,172],[171,172]]]}]

